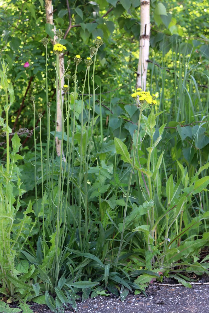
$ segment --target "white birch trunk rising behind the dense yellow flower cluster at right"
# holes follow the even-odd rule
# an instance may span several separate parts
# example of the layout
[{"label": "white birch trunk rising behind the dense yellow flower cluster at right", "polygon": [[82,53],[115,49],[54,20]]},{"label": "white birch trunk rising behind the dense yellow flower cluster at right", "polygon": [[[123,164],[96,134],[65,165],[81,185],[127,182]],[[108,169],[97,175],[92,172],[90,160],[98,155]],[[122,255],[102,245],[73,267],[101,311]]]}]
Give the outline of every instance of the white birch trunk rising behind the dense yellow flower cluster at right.
[{"label": "white birch trunk rising behind the dense yellow flower cluster at right", "polygon": [[137,88],[146,90],[147,68],[149,59],[149,39],[150,39],[150,3],[141,0],[141,28],[139,37],[139,58],[137,70]]}]

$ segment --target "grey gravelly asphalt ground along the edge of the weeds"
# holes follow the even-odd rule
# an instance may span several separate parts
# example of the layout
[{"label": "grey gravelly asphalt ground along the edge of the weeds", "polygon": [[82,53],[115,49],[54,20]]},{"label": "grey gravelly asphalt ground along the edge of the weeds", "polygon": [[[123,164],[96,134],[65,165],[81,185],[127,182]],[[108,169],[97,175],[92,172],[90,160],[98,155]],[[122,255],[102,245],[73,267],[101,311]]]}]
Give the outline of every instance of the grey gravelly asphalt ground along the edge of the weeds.
[{"label": "grey gravelly asphalt ground along the edge of the weeds", "polygon": [[[209,277],[200,282],[209,281]],[[77,301],[78,313],[209,313],[209,285],[150,285],[144,295],[129,294],[125,301],[115,296],[97,296],[83,303]],[[31,306],[34,313],[52,313],[46,305]],[[65,310],[65,313],[71,311]]]}]

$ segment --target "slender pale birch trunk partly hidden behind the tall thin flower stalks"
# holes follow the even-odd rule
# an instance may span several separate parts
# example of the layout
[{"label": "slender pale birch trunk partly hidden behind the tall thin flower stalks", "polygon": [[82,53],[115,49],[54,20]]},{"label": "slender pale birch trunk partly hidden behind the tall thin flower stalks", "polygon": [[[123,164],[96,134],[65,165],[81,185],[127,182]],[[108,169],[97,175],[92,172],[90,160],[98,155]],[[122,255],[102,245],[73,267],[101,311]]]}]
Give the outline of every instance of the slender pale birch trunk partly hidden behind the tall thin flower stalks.
[{"label": "slender pale birch trunk partly hidden behind the tall thin flower stalks", "polygon": [[[54,33],[56,31],[55,25],[53,23],[53,5],[52,5],[52,0],[45,0],[45,10],[46,10],[46,23],[49,23],[51,25],[54,26]],[[57,37],[56,35],[54,36],[53,39],[51,39],[52,44],[54,45],[56,43]],[[65,83],[65,78],[64,78],[64,72],[65,72],[65,64],[64,64],[64,55],[60,54],[60,77],[63,76],[62,80],[61,80],[61,86],[60,88],[63,87],[64,83]],[[59,84],[59,82],[58,82]],[[62,96],[62,103],[64,101],[64,96]],[[57,93],[57,116],[56,116],[56,131],[62,131],[62,111],[60,109],[60,93]],[[55,138],[55,142],[56,142],[56,151],[57,151],[57,156],[61,155],[61,141],[58,139],[58,137]],[[65,155],[64,155],[64,151],[62,150],[62,157],[63,160],[65,161]]]}]

